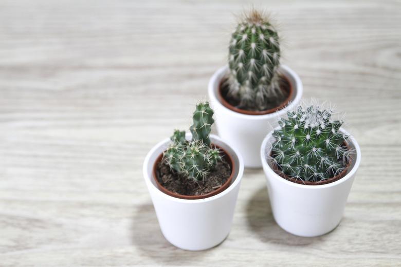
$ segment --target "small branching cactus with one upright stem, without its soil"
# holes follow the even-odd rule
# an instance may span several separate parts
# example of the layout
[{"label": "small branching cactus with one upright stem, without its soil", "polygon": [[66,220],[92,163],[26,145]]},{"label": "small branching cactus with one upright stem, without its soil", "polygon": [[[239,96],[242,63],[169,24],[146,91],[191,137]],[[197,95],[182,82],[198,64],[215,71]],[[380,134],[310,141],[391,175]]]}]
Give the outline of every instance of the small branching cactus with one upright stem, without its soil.
[{"label": "small branching cactus with one upright stem, without its soil", "polygon": [[210,127],[214,120],[213,110],[209,103],[196,105],[193,112],[193,124],[190,127],[192,140],[185,139],[185,131],[175,130],[169,148],[163,159],[167,164],[188,178],[203,180],[218,161],[221,161],[220,150],[210,146]]}]

